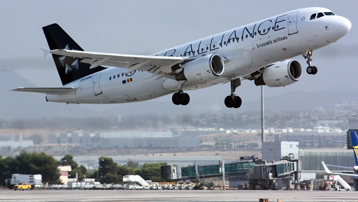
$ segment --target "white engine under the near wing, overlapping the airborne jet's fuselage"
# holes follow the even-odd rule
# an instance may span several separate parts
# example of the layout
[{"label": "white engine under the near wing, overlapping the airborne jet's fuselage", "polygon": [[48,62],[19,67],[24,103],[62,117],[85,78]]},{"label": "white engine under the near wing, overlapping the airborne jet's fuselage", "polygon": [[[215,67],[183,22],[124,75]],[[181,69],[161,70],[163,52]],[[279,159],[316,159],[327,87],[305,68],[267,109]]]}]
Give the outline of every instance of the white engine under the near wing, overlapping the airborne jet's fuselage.
[{"label": "white engine under the near wing, overlapping the airborne jet's fuselage", "polygon": [[206,55],[185,64],[182,72],[185,80],[191,82],[210,81],[224,72],[224,61],[217,54]]}]

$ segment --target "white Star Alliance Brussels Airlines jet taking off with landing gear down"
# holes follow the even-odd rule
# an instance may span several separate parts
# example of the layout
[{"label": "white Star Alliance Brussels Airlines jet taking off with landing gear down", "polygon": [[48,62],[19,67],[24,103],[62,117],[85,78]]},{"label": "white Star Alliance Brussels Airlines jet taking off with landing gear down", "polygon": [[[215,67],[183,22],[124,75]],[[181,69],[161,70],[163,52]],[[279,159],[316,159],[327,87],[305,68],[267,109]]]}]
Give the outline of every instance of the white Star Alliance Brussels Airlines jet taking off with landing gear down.
[{"label": "white Star Alliance Brussels Airlines jet taking off with landing gear down", "polygon": [[[231,83],[224,99],[242,104],[241,81],[284,87],[300,80],[302,55],[308,74],[316,74],[312,52],[346,35],[352,24],[326,8],[292,10],[255,23],[166,49],[149,56],[84,51],[58,24],[43,27],[62,87],[15,88],[44,93],[46,101],[112,104],[151,100],[174,93],[175,105],[190,101],[184,91]],[[137,39],[141,40],[141,39]]]}]

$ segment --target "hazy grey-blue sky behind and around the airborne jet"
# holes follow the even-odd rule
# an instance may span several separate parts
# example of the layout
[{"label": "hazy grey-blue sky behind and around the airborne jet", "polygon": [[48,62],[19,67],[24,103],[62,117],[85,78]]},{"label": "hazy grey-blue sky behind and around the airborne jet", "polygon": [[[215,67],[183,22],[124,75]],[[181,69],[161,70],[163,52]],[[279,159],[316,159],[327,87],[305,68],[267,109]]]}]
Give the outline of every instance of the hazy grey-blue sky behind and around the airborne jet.
[{"label": "hazy grey-blue sky behind and around the airborne jet", "polygon": [[[304,69],[301,80],[281,88],[265,87],[265,96],[295,91],[350,91],[357,86],[357,1],[1,0],[0,5],[0,69],[15,71],[38,87],[61,86],[52,57],[43,58],[40,49],[48,48],[42,27],[52,23],[58,23],[86,51],[151,54],[295,10],[297,6],[328,8],[348,18],[352,29],[337,43],[313,52],[316,75],[306,74],[304,58],[296,57]],[[188,109],[194,109],[195,100],[223,104],[230,87],[219,84],[188,93],[192,104]],[[243,81],[236,94],[243,102],[257,100],[260,87],[253,81]],[[156,101],[171,102],[171,95]],[[137,106],[145,107],[144,103]]]}]

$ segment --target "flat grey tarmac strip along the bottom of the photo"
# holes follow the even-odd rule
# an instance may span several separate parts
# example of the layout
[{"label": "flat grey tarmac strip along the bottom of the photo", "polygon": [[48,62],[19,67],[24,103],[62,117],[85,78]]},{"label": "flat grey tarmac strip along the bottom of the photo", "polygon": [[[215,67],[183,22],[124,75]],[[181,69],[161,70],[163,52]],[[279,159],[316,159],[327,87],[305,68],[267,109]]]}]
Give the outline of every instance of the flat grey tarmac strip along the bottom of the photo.
[{"label": "flat grey tarmac strip along the bottom of the photo", "polygon": [[0,190],[0,202],[352,202],[353,191],[249,191],[249,190]]}]

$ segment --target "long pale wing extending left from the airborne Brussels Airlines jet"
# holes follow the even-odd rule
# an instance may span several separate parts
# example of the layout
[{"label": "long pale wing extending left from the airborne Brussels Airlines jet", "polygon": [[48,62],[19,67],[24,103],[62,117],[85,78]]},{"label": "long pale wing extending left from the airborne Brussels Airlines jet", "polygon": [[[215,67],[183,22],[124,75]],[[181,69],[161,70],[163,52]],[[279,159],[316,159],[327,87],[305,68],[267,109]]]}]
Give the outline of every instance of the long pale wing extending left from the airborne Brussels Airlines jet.
[{"label": "long pale wing extending left from the airborne Brussels Airlines jet", "polygon": [[[83,58],[81,62],[91,64],[90,69],[100,65],[126,68],[126,73],[137,71],[148,71],[158,78],[164,77],[166,74],[174,75],[181,71],[179,63],[184,62],[187,57],[169,57],[169,56],[142,56],[127,55],[113,53],[96,53],[87,51],[74,51],[66,49],[56,49],[49,53],[69,56],[75,58]],[[178,72],[176,71],[178,70]]]}]

